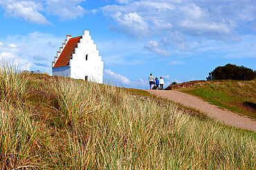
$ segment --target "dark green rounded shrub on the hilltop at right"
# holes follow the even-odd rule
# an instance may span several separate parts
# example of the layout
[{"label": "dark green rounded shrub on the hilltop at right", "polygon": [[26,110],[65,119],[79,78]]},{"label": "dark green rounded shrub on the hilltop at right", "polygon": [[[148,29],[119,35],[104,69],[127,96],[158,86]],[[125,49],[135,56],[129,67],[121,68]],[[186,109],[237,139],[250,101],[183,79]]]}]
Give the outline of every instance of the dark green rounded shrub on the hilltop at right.
[{"label": "dark green rounded shrub on the hilltop at right", "polygon": [[225,66],[216,67],[206,78],[208,81],[214,80],[237,80],[251,81],[256,78],[256,71],[244,67],[227,64]]}]

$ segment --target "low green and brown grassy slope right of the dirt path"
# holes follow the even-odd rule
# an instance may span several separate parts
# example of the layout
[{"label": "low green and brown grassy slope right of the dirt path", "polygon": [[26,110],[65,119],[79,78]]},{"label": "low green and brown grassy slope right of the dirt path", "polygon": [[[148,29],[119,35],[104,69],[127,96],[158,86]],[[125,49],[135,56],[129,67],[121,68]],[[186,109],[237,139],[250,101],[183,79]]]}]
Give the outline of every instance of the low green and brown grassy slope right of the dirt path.
[{"label": "low green and brown grassy slope right of the dirt path", "polygon": [[213,81],[179,89],[256,120],[256,80]]}]

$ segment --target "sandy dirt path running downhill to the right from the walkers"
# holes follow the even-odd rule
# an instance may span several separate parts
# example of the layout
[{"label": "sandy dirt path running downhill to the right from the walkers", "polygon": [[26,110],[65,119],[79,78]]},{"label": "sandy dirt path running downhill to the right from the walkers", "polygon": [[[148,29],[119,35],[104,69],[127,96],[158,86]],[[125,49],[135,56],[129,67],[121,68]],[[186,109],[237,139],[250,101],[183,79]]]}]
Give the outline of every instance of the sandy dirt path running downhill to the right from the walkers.
[{"label": "sandy dirt path running downhill to the right from the walkers", "polygon": [[239,116],[228,109],[220,109],[217,105],[212,105],[201,98],[192,96],[190,94],[185,94],[176,90],[149,90],[145,91],[150,92],[156,96],[161,96],[172,100],[176,103],[181,103],[182,105],[188,107],[194,107],[199,111],[207,114],[210,118],[214,118],[217,121],[223,122],[226,125],[237,127],[240,129],[248,129],[251,131],[256,131],[256,121],[245,116]]}]

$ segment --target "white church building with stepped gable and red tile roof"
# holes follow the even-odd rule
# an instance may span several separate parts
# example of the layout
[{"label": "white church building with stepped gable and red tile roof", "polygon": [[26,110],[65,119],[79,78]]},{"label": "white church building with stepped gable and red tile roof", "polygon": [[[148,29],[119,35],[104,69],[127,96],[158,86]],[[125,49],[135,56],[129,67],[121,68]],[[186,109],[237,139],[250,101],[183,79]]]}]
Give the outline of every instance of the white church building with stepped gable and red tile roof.
[{"label": "white church building with stepped gable and red tile roof", "polygon": [[53,61],[53,76],[65,76],[103,83],[103,61],[89,31],[82,36],[66,36]]}]

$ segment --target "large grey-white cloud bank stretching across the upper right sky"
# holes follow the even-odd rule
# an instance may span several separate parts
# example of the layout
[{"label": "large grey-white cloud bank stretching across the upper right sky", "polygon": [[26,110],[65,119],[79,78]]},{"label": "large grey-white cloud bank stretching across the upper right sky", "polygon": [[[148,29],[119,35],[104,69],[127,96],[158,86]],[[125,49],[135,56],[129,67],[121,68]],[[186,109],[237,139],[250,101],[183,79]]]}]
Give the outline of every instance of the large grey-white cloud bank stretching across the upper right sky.
[{"label": "large grey-white cloud bank stretching across the upper right sky", "polygon": [[[256,3],[249,1],[119,1],[101,8],[119,32],[134,38],[184,36],[240,41],[237,29],[256,19]],[[138,19],[138,20],[136,20]],[[139,34],[140,32],[140,34]]]}]

